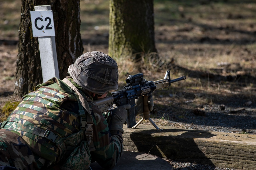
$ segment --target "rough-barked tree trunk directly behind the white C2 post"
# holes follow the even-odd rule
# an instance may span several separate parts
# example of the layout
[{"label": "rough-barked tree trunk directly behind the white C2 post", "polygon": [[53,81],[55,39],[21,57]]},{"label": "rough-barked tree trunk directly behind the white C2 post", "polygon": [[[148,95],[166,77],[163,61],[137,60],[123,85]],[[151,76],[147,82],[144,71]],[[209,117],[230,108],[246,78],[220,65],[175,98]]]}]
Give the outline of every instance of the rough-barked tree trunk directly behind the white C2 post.
[{"label": "rough-barked tree trunk directly behind the white C2 post", "polygon": [[22,0],[14,91],[18,96],[34,91],[36,85],[42,83],[38,38],[33,37],[30,17],[30,11],[38,5],[51,5],[53,11],[60,79],[67,75],[69,65],[83,53],[79,0]]}]

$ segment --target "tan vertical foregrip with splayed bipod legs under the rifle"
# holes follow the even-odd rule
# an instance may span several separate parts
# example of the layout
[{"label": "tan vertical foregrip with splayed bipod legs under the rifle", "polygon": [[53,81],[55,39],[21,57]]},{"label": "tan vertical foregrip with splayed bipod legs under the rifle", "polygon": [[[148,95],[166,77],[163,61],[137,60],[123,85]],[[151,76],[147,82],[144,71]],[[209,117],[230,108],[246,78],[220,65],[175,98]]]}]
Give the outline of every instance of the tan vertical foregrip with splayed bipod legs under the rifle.
[{"label": "tan vertical foregrip with splayed bipod legs under the rifle", "polygon": [[150,118],[150,111],[148,108],[148,96],[143,96],[143,118],[132,127],[132,129],[136,128],[141,122],[143,122],[144,120],[149,120],[150,123],[156,128],[156,130],[161,131],[163,129],[160,129],[154,122],[153,120]]}]

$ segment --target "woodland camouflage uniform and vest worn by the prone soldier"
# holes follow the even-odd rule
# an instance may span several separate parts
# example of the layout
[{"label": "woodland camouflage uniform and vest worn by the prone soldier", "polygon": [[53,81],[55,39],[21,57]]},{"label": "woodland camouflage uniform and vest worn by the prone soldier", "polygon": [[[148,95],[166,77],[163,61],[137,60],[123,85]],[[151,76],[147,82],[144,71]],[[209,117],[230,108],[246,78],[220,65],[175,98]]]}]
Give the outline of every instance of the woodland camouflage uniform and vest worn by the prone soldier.
[{"label": "woodland camouflage uniform and vest worn by the prone soldier", "polygon": [[[22,98],[0,129],[0,165],[18,169],[44,169],[59,163],[61,169],[87,169],[97,161],[113,168],[123,153],[121,130],[109,130],[87,90],[68,80],[85,95],[93,118],[89,148],[80,117],[86,115],[78,95],[56,77]],[[87,116],[86,116],[87,117]],[[91,149],[91,151],[90,151]]]}]

